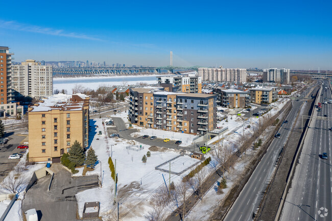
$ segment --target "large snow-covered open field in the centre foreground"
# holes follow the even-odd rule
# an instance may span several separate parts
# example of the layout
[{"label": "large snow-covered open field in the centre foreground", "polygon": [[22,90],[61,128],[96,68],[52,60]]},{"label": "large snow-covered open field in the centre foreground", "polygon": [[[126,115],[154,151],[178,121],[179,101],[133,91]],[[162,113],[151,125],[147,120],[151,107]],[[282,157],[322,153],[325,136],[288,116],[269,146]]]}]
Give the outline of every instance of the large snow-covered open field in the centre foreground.
[{"label": "large snow-covered open field in the centre foreground", "polygon": [[[98,126],[99,131],[103,128],[102,120],[103,119],[93,119],[90,125]],[[179,155],[179,151],[177,150],[160,149],[159,151],[151,151],[151,157],[148,157],[147,162],[143,163],[141,159],[143,155],[146,155],[149,151],[149,145],[142,144],[145,147],[144,150],[132,151],[127,150],[126,146],[133,144],[141,145],[141,143],[117,137],[108,138],[106,135],[91,135],[90,138],[93,139],[91,146],[96,151],[101,163],[98,163],[93,171],[88,171],[87,175],[97,174],[100,176],[100,171],[102,170],[103,186],[76,194],[80,215],[83,212],[84,202],[87,201],[101,202],[100,214],[103,217],[112,217],[114,215],[114,181],[111,179],[111,172],[107,163],[109,156],[112,156],[114,164],[116,160],[116,173],[118,173],[117,192],[121,203],[120,211],[121,214],[124,214],[134,205],[150,196],[159,186],[164,185],[162,174],[166,181],[169,174],[156,170],[155,167]],[[97,138],[99,138],[99,140],[97,140]],[[189,157],[180,158],[184,159]],[[189,165],[190,162],[192,162],[192,160],[188,159],[186,166]],[[185,165],[182,164],[182,167],[183,166],[185,167]],[[189,170],[183,175],[187,173],[189,173]],[[179,182],[181,179],[181,176],[171,176],[171,181],[175,183]],[[145,212],[151,210],[152,208],[149,202],[144,201],[144,203],[139,205],[122,220],[145,220]]]}]

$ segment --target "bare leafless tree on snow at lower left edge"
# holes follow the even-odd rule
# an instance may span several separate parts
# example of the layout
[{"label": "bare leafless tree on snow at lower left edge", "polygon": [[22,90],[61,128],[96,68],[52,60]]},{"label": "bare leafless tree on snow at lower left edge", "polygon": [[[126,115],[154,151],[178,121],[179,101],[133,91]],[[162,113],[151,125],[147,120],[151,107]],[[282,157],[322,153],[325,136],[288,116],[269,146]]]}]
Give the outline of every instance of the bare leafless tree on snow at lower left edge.
[{"label": "bare leafless tree on snow at lower left edge", "polygon": [[25,177],[19,174],[10,173],[0,186],[11,193],[18,193],[26,187]]}]

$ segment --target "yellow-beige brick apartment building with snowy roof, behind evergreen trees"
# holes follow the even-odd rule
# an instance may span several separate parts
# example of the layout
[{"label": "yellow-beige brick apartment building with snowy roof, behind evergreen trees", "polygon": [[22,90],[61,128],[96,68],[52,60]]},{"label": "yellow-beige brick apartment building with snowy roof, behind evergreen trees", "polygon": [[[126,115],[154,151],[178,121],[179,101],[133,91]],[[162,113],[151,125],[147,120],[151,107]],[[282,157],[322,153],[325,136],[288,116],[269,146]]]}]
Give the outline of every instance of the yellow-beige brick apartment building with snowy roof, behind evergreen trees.
[{"label": "yellow-beige brick apartment building with snowy roof, behind evergreen trees", "polygon": [[29,161],[60,162],[75,140],[88,146],[89,99],[60,93],[29,108]]}]

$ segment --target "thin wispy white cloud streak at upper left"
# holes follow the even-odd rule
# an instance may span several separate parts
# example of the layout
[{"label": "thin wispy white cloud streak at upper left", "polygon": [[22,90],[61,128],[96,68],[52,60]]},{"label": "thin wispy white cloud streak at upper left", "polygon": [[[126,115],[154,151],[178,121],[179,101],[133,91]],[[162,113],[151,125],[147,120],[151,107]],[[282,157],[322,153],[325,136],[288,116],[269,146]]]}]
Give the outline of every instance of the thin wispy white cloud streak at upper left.
[{"label": "thin wispy white cloud streak at upper left", "polygon": [[69,38],[80,38],[80,39],[87,39],[93,41],[102,41],[102,39],[100,38],[88,36],[81,33],[67,32],[61,29],[44,28],[40,26],[34,26],[31,24],[22,24],[16,21],[0,20],[0,28],[23,31],[23,32],[40,33],[45,35],[55,35],[55,36],[62,36]]}]

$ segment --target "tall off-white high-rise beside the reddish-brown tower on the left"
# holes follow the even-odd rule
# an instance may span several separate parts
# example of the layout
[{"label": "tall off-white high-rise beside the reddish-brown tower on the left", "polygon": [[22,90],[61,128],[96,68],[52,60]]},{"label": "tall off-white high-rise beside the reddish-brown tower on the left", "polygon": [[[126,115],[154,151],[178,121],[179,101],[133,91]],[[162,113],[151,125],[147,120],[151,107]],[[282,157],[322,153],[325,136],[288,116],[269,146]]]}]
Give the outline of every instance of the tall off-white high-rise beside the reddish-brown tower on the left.
[{"label": "tall off-white high-rise beside the reddish-brown tower on the left", "polygon": [[28,59],[12,66],[11,87],[15,96],[40,99],[53,94],[53,67]]}]

